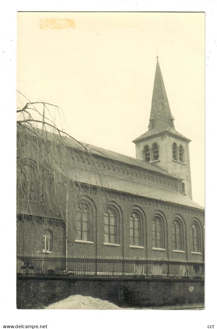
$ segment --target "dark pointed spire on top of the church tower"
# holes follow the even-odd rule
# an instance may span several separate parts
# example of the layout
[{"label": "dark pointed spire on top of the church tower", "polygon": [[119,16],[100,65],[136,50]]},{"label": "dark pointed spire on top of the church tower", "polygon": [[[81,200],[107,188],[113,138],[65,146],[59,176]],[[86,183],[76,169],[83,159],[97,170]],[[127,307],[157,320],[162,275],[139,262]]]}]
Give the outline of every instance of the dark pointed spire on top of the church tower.
[{"label": "dark pointed spire on top of the church tower", "polygon": [[157,56],[149,130],[175,129],[173,120]]}]

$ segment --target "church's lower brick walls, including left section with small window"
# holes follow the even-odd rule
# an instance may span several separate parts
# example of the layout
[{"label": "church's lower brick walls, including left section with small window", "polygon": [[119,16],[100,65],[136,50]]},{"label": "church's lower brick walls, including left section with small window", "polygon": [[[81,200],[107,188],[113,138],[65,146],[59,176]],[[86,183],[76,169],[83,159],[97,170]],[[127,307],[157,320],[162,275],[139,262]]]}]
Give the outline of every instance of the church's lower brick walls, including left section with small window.
[{"label": "church's lower brick walls, including left section with small window", "polygon": [[[88,194],[87,194],[88,193]],[[99,191],[83,187],[80,195],[88,196],[88,202],[93,208],[91,230],[92,242],[76,242],[76,221],[74,209],[76,208],[73,195],[69,196],[68,210],[68,253],[91,256],[123,256],[123,257],[154,257],[184,260],[204,260],[204,212],[190,207],[173,205],[160,201],[151,201],[147,198],[130,196],[127,193],[105,192],[104,200],[101,200]],[[87,197],[86,197],[87,198]],[[115,207],[118,214],[118,245],[104,244],[104,213],[106,206]],[[74,209],[73,209],[74,208]],[[129,217],[133,210],[138,210],[142,216],[142,246],[143,248],[130,247],[130,223]],[[152,240],[152,220],[155,215],[161,215],[164,223],[164,249],[154,250]],[[182,251],[174,252],[172,224],[174,218],[179,218],[182,224]],[[200,228],[201,253],[192,253],[190,226],[192,221],[198,223]],[[52,252],[65,254],[65,224],[58,220],[43,221],[27,218],[18,220],[17,223],[17,251],[24,253],[36,253],[42,251],[43,230],[48,227],[53,234]]]}]

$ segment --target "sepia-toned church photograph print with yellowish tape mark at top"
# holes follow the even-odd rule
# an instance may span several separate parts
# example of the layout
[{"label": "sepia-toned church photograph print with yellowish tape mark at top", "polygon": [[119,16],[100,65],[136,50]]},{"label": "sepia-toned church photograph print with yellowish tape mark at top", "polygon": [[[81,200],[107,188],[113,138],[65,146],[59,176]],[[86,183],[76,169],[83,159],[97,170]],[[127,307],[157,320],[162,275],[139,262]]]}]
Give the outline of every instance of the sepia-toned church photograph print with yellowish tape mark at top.
[{"label": "sepia-toned church photograph print with yellowish tape mark at top", "polygon": [[204,50],[204,13],[17,14],[17,308],[204,308]]}]

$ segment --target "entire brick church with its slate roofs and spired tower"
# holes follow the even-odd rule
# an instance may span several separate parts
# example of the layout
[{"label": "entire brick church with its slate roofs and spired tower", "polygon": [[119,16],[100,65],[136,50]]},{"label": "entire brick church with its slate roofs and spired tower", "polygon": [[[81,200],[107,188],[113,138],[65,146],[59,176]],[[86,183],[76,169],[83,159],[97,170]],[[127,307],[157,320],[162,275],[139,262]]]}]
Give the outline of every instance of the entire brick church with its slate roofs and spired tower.
[{"label": "entire brick church with its slate roofs and spired tower", "polygon": [[136,158],[25,125],[17,140],[18,254],[203,263],[190,140],[175,129],[158,58]]}]

